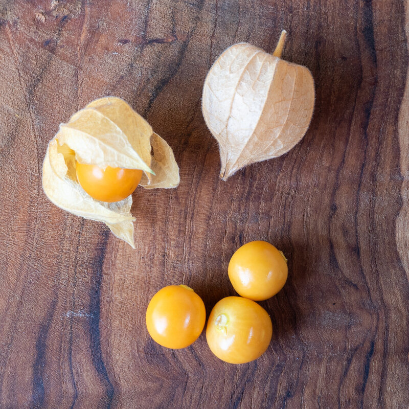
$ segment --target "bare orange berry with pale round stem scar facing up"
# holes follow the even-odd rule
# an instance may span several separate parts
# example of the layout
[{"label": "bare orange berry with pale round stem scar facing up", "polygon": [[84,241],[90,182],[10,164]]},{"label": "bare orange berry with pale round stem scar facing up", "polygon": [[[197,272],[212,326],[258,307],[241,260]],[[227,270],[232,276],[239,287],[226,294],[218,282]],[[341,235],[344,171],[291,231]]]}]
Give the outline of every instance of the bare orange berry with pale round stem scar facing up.
[{"label": "bare orange berry with pale round stem scar facing up", "polygon": [[226,297],[209,316],[206,339],[210,350],[229,363],[245,363],[261,356],[271,340],[267,311],[252,300]]}]

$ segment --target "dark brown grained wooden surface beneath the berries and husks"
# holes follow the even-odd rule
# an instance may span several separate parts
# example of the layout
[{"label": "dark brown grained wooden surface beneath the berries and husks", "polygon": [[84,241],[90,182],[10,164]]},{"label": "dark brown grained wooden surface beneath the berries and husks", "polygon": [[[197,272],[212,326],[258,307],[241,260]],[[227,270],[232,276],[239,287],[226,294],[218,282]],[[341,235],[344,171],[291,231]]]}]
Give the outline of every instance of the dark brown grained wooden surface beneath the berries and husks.
[{"label": "dark brown grained wooden surface beneath the berries and husks", "polygon": [[[0,2],[1,408],[407,408],[408,5],[399,0]],[[316,83],[288,154],[218,178],[200,112],[226,47],[283,57]],[[89,101],[124,98],[175,152],[180,186],[134,194],[132,250],[50,203],[48,141]],[[152,295],[192,286],[207,312],[234,294],[234,250],[268,240],[289,260],[261,305],[257,361],[185,349],[145,328]]]}]

